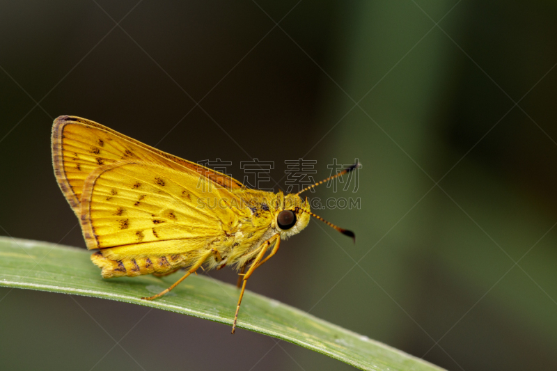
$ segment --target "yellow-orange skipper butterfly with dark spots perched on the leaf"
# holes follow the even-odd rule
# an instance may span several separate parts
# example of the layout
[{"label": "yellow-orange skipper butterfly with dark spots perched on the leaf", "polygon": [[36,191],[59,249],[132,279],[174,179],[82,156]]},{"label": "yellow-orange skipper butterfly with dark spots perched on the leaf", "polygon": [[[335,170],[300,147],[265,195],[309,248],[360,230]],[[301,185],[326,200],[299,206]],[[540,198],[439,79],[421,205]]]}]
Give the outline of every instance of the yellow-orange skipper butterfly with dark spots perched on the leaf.
[{"label": "yellow-orange skipper butterfly with dark spots perched on the leaf", "polygon": [[168,289],[141,298],[152,300],[199,268],[240,270],[232,333],[253,271],[272,258],[281,239],[306,228],[311,216],[355,242],[353,232],[313,214],[308,198],[299,194],[358,163],[297,194],[275,194],[248,189],[228,175],[76,116],[54,120],[52,161],[87,248],[98,249],[91,260],[103,278],[186,269]]}]

